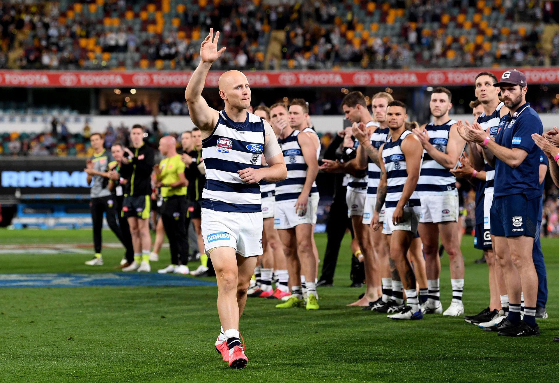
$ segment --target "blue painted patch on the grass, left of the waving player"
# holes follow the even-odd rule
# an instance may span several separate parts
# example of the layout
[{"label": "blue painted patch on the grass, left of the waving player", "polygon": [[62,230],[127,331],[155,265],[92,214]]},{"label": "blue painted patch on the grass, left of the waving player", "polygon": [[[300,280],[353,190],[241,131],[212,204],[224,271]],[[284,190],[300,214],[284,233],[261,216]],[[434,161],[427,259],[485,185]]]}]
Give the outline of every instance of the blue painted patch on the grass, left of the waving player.
[{"label": "blue painted patch on the grass, left of the waving player", "polygon": [[103,286],[216,286],[216,284],[197,278],[158,273],[0,274],[0,288]]}]

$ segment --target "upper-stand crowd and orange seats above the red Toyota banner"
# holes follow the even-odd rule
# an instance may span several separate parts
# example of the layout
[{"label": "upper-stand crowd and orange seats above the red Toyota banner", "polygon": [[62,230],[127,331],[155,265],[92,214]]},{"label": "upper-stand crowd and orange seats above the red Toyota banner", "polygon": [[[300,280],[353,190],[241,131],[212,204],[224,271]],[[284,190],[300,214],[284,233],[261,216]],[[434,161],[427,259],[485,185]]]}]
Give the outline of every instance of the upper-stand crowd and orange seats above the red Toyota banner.
[{"label": "upper-stand crowd and orange seats above the red Toyota banner", "polygon": [[[541,0],[100,4],[2,3],[0,68],[193,69],[212,25],[230,47],[217,69],[489,67],[509,58],[541,66],[557,59],[555,46],[548,52],[539,41],[544,23],[553,22]],[[533,27],[515,24],[523,21]]]}]

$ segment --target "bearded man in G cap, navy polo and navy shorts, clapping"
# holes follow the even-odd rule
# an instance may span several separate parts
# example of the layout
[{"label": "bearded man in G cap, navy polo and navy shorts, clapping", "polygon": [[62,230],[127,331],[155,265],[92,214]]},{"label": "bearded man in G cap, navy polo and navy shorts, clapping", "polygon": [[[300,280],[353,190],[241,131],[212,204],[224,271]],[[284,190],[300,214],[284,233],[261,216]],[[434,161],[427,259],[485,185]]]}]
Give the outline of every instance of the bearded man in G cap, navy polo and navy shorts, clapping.
[{"label": "bearded man in G cap, navy polo and navy shorts, clapping", "polygon": [[[491,234],[495,253],[505,274],[509,293],[506,320],[486,331],[508,337],[539,335],[536,324],[538,276],[532,260],[539,211],[539,160],[542,151],[534,144],[533,133],[542,134],[538,114],[526,102],[526,76],[516,69],[506,71],[501,81],[501,97],[510,112],[501,118],[495,139],[479,124],[466,125],[468,141],[481,144],[484,156],[495,164],[495,192],[491,205]],[[524,319],[520,320],[520,295],[524,293]]]}]

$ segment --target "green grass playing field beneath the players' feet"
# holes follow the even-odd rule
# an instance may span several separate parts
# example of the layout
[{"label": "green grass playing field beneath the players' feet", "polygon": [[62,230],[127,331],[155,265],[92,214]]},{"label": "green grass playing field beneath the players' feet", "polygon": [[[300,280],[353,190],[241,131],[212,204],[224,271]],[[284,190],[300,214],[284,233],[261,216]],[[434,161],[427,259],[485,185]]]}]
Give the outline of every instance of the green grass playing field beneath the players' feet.
[{"label": "green grass playing field beneath the players' feet", "polygon": [[[111,232],[104,240],[115,242]],[[0,230],[0,245],[89,243],[90,231]],[[325,235],[317,235],[324,253]],[[346,307],[362,289],[349,285],[349,240],[338,261],[335,287],[319,288],[321,309],[278,310],[249,298],[241,332],[249,364],[230,370],[214,349],[219,331],[216,287],[3,288],[0,291],[2,382],[495,382],[555,381],[559,344],[559,249],[544,239],[549,319],[539,338],[503,338],[462,318],[427,316],[414,322]],[[464,301],[477,314],[489,301],[486,265],[464,237]],[[105,250],[102,267],[89,255],[0,255],[1,273],[113,272],[122,250]],[[163,267],[162,261],[152,269]],[[197,264],[191,264],[196,267]],[[211,278],[205,278],[211,281]],[[441,298],[448,306],[448,258]]]}]

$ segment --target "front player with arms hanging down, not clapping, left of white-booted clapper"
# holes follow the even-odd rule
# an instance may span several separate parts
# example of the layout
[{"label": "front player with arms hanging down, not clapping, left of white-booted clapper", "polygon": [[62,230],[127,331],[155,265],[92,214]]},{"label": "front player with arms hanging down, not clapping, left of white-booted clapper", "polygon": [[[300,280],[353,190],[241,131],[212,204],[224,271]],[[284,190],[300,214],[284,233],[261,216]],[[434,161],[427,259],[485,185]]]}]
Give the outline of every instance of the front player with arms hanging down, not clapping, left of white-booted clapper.
[{"label": "front player with arms hanging down, not clapping, left of white-booted clapper", "polygon": [[421,169],[423,147],[419,139],[405,128],[406,105],[400,101],[388,104],[386,119],[390,140],[380,148],[381,179],[377,188],[377,203],[373,214],[373,230],[378,230],[379,215],[386,203],[383,232],[390,237],[390,258],[404,284],[408,305],[391,319],[422,319],[414,270],[408,260],[408,250],[418,230],[421,202],[415,190]]}]

